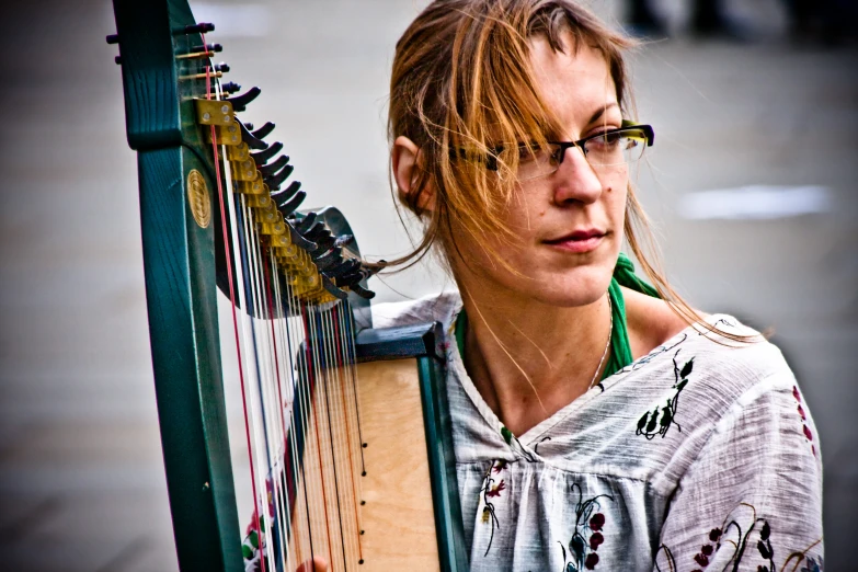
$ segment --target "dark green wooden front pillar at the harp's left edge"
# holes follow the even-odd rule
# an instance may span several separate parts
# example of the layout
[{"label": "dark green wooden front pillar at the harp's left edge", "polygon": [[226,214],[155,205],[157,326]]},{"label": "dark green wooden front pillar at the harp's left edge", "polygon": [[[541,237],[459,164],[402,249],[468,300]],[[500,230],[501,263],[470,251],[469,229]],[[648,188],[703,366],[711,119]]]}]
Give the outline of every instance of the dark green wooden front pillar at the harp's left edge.
[{"label": "dark green wooden front pillar at the harp's left edge", "polygon": [[[191,98],[205,82],[180,80],[201,60],[186,0],[114,0],[128,144],[138,150],[146,298],[164,470],[179,565],[241,571],[220,371],[214,224],[190,213],[187,174],[203,173],[214,207],[211,161]],[[205,163],[203,161],[206,161]],[[214,208],[213,208],[214,211]],[[214,221],[213,221],[214,222]]]}]

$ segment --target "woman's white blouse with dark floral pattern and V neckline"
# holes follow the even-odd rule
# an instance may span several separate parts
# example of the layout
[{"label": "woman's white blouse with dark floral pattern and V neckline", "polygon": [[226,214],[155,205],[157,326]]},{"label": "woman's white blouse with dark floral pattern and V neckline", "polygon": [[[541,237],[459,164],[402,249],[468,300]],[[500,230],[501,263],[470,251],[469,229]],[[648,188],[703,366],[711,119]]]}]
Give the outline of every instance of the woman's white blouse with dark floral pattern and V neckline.
[{"label": "woman's white blouse with dark floral pattern and V neckline", "polygon": [[[457,293],[374,307],[441,321],[470,568],[823,570],[816,431],[780,351],[687,328],[524,435],[468,377]],[[708,323],[756,334],[732,317]]]}]

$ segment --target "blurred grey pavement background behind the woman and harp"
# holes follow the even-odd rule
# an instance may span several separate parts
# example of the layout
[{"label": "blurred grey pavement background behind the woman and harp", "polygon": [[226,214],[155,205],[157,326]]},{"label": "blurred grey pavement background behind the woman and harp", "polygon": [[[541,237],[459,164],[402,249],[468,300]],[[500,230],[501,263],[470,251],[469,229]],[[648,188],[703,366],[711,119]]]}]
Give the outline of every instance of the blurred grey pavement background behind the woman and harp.
[{"label": "blurred grey pavement background behind the woman and harp", "polygon": [[[242,118],[277,124],[307,205],[339,206],[368,255],[409,244],[385,113],[393,45],[425,3],[192,1],[229,79],[263,90]],[[667,275],[774,329],[822,443],[826,570],[856,570],[855,2],[590,3],[650,38],[632,58],[657,133],[640,193]],[[0,10],[0,568],[175,570],[112,7]],[[432,264],[374,284],[381,301],[445,286]]]}]

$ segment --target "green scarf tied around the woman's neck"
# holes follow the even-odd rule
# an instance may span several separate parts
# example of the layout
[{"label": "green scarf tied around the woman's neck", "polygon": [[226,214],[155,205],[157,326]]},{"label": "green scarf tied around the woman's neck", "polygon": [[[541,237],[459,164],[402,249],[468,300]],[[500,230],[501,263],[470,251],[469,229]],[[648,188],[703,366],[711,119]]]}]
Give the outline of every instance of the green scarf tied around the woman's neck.
[{"label": "green scarf tied around the woman's neck", "polygon": [[[622,298],[620,286],[659,298],[655,288],[640,279],[634,274],[634,264],[629,258],[620,252],[617,265],[614,267],[614,276],[608,286],[608,296],[610,296],[610,307],[614,313],[614,329],[610,332],[610,356],[602,379],[606,379],[632,362],[631,347],[629,346],[629,329],[626,323],[626,300]],[[459,312],[456,319],[456,345],[459,346],[459,354],[465,358],[465,332],[468,328],[468,317],[465,309]]]}]

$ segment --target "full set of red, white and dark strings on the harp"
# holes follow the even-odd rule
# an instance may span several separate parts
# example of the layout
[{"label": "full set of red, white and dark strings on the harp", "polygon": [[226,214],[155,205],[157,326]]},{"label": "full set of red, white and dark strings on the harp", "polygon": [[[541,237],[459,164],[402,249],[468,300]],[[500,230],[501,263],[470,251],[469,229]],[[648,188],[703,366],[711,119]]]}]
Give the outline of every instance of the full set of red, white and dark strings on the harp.
[{"label": "full set of red, white and dark strings on the harp", "polygon": [[[214,83],[221,99],[209,70],[207,98]],[[254,207],[233,191],[214,127],[211,137],[254,499],[249,533],[263,572],[293,571],[319,556],[331,572],[346,572],[363,563],[355,473],[365,474],[352,308],[296,296],[289,263],[266,245]]]}]

